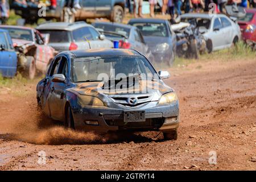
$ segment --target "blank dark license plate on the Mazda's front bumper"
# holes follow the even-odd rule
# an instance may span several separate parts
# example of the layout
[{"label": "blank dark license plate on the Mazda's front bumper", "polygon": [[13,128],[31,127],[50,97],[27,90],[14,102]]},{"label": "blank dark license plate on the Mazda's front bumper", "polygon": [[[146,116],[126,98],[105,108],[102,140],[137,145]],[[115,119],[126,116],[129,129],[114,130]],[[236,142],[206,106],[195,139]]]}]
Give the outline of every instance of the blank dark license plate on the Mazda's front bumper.
[{"label": "blank dark license plate on the Mazda's front bumper", "polygon": [[145,111],[123,111],[124,122],[143,122],[145,119]]}]

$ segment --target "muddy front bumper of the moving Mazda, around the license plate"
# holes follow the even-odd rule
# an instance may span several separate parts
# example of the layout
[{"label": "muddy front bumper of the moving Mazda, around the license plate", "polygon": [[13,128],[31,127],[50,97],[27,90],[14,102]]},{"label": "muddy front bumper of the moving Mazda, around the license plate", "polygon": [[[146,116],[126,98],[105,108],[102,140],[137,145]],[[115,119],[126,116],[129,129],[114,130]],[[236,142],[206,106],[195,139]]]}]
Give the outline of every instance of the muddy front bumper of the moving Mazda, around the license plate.
[{"label": "muddy front bumper of the moving Mazda, around the license plate", "polygon": [[[146,121],[124,122],[123,111],[144,110]],[[179,102],[170,105],[155,106],[147,109],[113,109],[109,107],[89,106],[73,110],[76,129],[84,131],[170,131],[179,126]],[[88,121],[97,125],[88,125]]]}]

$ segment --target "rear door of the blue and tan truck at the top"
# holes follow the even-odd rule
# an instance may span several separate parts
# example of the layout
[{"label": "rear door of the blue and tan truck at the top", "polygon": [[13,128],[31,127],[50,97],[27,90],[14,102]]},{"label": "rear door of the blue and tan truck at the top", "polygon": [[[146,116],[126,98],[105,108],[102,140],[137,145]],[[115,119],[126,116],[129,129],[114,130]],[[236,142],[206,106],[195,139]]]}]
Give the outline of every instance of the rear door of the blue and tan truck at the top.
[{"label": "rear door of the blue and tan truck at the top", "polygon": [[80,5],[82,9],[79,10],[78,14],[76,14],[77,17],[81,17],[82,19],[95,17],[96,15],[95,0],[82,0],[80,2]]}]

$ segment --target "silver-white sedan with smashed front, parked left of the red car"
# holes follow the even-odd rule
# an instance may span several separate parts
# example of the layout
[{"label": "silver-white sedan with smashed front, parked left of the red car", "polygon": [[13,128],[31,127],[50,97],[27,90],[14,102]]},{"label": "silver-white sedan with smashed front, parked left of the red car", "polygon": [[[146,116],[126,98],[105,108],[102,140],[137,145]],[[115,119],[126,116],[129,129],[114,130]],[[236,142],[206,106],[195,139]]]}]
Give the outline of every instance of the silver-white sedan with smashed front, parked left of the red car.
[{"label": "silver-white sedan with smashed front, parked left of the red car", "polygon": [[196,20],[197,27],[207,41],[208,52],[231,47],[241,39],[240,27],[224,14],[210,16],[208,13],[181,15],[181,22]]}]

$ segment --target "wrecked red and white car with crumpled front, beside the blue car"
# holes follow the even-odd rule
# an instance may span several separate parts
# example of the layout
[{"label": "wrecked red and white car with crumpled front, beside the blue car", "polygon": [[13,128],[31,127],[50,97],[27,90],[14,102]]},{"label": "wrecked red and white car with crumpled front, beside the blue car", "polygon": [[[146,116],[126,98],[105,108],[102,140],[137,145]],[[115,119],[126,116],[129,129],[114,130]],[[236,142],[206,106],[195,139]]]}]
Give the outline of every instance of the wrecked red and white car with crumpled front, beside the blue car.
[{"label": "wrecked red and white car with crumpled front, beside the blue car", "polygon": [[[15,49],[25,56],[34,57],[36,70],[46,72],[49,63],[56,55],[55,49],[44,42],[43,36],[35,28],[20,26],[3,26],[0,28],[8,30],[13,40]],[[26,63],[19,65],[26,65]]]}]

